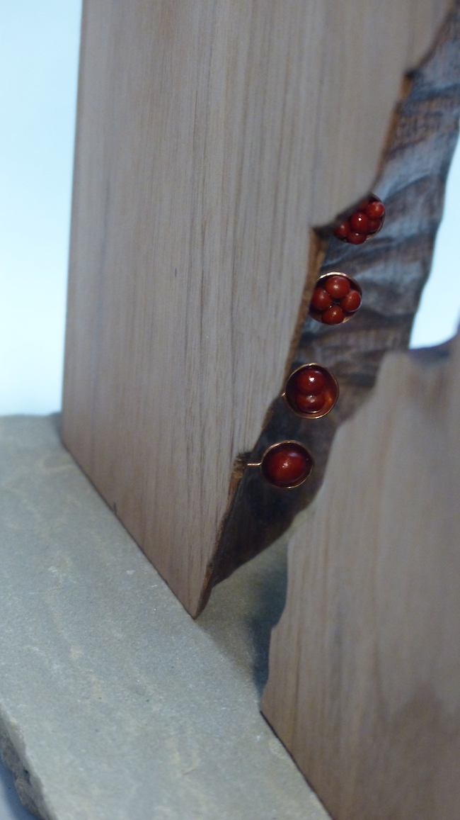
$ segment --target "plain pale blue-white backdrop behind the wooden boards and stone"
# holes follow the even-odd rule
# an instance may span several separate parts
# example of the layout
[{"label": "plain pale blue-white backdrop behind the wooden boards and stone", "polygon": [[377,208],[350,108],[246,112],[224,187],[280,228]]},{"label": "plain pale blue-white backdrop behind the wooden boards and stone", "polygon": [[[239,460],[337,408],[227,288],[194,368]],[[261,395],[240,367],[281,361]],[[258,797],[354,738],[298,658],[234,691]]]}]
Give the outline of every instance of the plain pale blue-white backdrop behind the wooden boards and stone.
[{"label": "plain pale blue-white backdrop behind the wooden boards and stone", "polygon": [[[0,0],[0,414],[61,407],[81,0]],[[460,312],[460,149],[413,347]],[[0,766],[0,820],[30,818]]]}]

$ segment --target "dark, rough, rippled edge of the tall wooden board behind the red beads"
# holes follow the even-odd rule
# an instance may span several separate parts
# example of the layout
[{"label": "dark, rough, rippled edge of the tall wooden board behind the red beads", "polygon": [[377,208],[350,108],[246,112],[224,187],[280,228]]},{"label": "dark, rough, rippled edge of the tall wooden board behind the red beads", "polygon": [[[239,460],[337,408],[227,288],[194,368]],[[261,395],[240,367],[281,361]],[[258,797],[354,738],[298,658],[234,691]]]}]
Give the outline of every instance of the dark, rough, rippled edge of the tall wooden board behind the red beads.
[{"label": "dark, rough, rippled edge of the tall wooden board behind the red beads", "polygon": [[270,444],[295,439],[313,453],[315,470],[304,485],[287,491],[267,485],[255,468],[244,471],[214,562],[214,583],[265,549],[308,506],[322,484],[337,426],[368,396],[384,354],[408,347],[430,273],[445,181],[458,139],[458,3],[431,53],[408,78],[408,86],[373,186],[386,205],[381,232],[353,246],[335,239],[330,227],[318,231],[329,237],[320,273],[342,271],[357,279],[363,306],[343,326],[323,326],[308,317],[290,370],[306,362],[330,368],[340,384],[336,408],[327,417],[305,421],[276,399],[254,450],[241,456],[243,464],[257,462]]}]

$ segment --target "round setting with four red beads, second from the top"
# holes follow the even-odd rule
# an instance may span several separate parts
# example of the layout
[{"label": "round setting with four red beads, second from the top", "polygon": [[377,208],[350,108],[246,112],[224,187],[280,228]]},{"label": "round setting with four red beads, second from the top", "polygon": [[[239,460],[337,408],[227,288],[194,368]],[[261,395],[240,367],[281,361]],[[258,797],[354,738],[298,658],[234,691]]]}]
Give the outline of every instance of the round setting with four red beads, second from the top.
[{"label": "round setting with four red beads, second from the top", "polygon": [[313,290],[310,313],[325,325],[340,325],[358,310],[361,294],[343,273],[319,281]]}]

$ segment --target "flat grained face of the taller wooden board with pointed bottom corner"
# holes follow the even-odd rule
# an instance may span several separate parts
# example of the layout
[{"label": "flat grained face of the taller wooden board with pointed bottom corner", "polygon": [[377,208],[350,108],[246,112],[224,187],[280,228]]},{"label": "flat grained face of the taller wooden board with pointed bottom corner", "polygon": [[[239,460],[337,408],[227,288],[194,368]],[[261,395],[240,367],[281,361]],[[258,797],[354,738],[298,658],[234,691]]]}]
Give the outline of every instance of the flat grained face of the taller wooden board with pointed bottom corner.
[{"label": "flat grained face of the taller wooden board with pointed bottom corner", "polygon": [[193,615],[282,385],[309,229],[369,189],[448,8],[83,3],[62,435]]}]

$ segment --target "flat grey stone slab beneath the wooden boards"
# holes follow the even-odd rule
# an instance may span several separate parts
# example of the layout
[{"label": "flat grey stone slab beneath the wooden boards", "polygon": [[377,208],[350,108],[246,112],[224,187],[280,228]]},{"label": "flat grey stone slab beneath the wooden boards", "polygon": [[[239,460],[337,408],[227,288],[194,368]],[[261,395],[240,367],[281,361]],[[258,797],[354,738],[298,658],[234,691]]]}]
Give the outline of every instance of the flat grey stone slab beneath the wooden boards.
[{"label": "flat grey stone slab beneath the wooden boards", "polygon": [[193,622],[62,448],[0,418],[0,735],[46,820],[326,820],[259,713],[278,543]]}]

